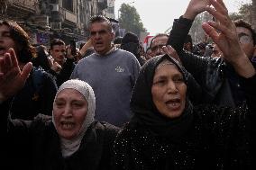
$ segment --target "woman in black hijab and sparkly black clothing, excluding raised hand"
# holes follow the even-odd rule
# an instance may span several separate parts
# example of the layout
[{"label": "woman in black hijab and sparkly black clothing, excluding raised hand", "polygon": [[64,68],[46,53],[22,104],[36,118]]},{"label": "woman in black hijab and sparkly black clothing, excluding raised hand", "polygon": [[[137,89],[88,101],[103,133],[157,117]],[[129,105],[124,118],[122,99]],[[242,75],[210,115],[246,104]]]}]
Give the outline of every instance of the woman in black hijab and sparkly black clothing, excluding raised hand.
[{"label": "woman in black hijab and sparkly black clothing, excluding raised hand", "polygon": [[114,168],[252,168],[255,70],[252,75],[241,77],[249,108],[194,107],[187,71],[168,55],[151,58],[133,89],[133,119],[115,140]]}]

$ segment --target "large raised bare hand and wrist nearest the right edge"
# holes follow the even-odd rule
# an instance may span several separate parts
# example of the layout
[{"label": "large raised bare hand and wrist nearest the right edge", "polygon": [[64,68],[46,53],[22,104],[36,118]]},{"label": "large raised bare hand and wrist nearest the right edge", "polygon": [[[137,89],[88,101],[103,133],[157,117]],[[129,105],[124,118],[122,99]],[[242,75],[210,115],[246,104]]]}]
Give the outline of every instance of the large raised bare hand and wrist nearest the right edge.
[{"label": "large raised bare hand and wrist nearest the right edge", "polygon": [[218,22],[203,23],[204,31],[215,41],[223,52],[224,58],[233,65],[238,74],[245,77],[253,76],[255,69],[240,46],[236,27],[228,16],[224,2],[210,0],[210,3],[214,7],[207,6],[206,11],[211,13]]}]

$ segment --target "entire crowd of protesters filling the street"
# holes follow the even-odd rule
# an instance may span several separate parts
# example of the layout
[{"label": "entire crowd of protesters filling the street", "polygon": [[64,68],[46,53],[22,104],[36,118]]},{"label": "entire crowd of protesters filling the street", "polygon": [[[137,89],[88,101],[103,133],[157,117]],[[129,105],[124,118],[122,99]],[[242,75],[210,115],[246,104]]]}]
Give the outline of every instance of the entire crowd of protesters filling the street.
[{"label": "entire crowd of protesters filling the street", "polygon": [[[193,45],[197,14],[213,43]],[[255,169],[256,32],[223,0],[190,0],[144,50],[91,17],[79,49],[32,46],[0,22],[0,111],[10,169]]]}]

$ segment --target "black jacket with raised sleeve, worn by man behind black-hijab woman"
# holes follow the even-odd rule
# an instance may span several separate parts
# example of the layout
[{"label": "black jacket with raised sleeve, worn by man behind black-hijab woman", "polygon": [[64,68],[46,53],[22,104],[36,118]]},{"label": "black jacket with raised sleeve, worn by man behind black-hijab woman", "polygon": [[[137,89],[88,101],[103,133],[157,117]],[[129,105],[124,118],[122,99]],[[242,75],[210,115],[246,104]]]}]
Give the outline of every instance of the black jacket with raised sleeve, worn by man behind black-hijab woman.
[{"label": "black jacket with raised sleeve, worn by man behind black-hijab woman", "polygon": [[175,20],[168,44],[176,49],[182,65],[203,88],[205,95],[201,97],[201,103],[233,107],[242,104],[245,95],[241,78],[233,67],[224,61],[224,58],[202,58],[183,49],[192,22],[183,17]]}]

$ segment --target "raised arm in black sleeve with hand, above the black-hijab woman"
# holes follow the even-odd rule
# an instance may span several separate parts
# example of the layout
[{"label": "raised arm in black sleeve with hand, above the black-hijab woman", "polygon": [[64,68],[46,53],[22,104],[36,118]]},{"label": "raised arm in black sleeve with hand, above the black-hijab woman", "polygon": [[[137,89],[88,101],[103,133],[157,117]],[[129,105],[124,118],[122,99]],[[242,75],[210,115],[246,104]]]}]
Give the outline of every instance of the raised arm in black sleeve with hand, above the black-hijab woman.
[{"label": "raised arm in black sleeve with hand, above the black-hijab woman", "polygon": [[[194,18],[198,13],[204,12],[209,3],[209,0],[191,0],[183,16],[173,22],[172,30],[169,33],[168,44],[177,51],[181,63],[187,71],[195,77],[203,88],[207,89],[207,91],[211,91],[211,95],[215,96],[215,86],[220,86],[216,84],[220,82],[218,78],[220,78],[219,75],[222,73],[219,67],[222,65],[223,59],[201,58],[183,49],[184,41],[186,40]],[[212,71],[215,73],[208,74]],[[208,76],[211,75],[215,75],[216,78],[209,78]]]}]

